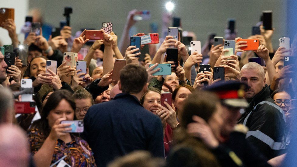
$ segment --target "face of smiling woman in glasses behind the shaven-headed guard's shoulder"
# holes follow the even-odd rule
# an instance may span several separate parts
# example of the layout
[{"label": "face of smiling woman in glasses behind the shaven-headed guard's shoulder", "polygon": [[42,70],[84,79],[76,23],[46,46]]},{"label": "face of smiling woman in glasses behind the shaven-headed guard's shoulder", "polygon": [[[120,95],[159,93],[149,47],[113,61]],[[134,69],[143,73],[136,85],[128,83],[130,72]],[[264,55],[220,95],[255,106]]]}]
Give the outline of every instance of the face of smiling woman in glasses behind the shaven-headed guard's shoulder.
[{"label": "face of smiling woman in glasses behind the shaven-headed guard's shoulder", "polygon": [[281,107],[281,109],[286,113],[290,107],[291,95],[285,89],[276,89],[271,94],[271,98],[274,103]]}]

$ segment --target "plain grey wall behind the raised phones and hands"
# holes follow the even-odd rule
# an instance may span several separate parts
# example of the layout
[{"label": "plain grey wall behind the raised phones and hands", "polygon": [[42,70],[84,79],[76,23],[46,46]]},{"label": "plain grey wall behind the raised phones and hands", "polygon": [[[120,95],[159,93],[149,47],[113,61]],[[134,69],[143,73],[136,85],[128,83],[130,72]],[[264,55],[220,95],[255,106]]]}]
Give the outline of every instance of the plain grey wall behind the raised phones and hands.
[{"label": "plain grey wall behind the raised phones and hands", "polygon": [[[162,12],[165,12],[166,0],[29,0],[29,8],[40,8],[45,22],[59,26],[63,20],[65,6],[73,8],[71,26],[73,34],[81,28],[98,28],[102,22],[112,22],[114,32],[121,36],[128,12],[132,9],[151,10],[149,22],[136,23],[137,30],[149,32],[149,23],[157,22],[161,29]],[[182,19],[183,30],[194,31],[197,40],[204,43],[208,32],[224,35],[226,19],[236,18],[238,36],[251,35],[251,27],[259,21],[263,10],[273,11],[274,48],[278,39],[286,36],[286,0],[173,0],[174,15]],[[159,32],[160,33],[160,32]]]}]

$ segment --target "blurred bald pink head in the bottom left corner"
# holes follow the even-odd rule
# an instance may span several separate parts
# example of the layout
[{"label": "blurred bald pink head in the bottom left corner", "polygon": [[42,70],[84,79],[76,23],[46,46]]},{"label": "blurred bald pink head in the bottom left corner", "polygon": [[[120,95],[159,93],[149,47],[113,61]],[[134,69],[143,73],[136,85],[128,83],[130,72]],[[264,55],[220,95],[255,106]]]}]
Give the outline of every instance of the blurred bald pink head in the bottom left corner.
[{"label": "blurred bald pink head in the bottom left corner", "polygon": [[0,125],[0,166],[28,166],[29,144],[25,132],[16,125]]}]

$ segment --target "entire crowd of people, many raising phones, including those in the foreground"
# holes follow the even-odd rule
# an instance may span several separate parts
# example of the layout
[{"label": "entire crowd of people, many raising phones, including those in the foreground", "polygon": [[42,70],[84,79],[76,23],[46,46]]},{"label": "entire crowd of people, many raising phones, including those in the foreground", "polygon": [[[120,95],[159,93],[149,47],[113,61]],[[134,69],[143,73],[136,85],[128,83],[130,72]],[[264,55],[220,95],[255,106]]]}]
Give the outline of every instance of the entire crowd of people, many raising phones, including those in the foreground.
[{"label": "entire crowd of people, many raising phones, including those in the foreground", "polygon": [[[64,26],[57,37],[30,32],[19,41],[13,19],[0,23],[13,52],[19,44],[29,46],[28,62],[16,54],[9,67],[0,52],[0,166],[290,166],[297,78],[295,65],[284,65],[284,57],[297,56],[297,36],[290,50],[273,48],[275,30],[258,23],[260,34],[250,37],[225,30],[225,40],[236,42],[231,56],[209,38],[202,54],[189,54],[181,39],[197,40],[190,31],[178,39],[160,35],[159,44],[139,49],[129,46],[137,12],[128,13],[121,40],[119,32],[103,29],[102,40],[86,39],[85,30],[72,36]],[[167,33],[171,18],[163,14],[166,29],[160,34]],[[46,25],[36,11],[33,22]],[[135,36],[144,33],[156,32]],[[242,50],[247,44],[239,39],[259,39],[260,45]],[[178,49],[178,63],[166,61],[167,48]],[[78,53],[87,72],[67,65],[64,52]],[[249,62],[252,57],[265,66]],[[119,81],[112,79],[115,59],[126,60]],[[57,61],[56,73],[47,69],[47,60]],[[171,74],[153,75],[158,64],[171,64]],[[200,64],[209,64],[211,72],[199,72]],[[224,81],[214,79],[214,67],[224,68]],[[17,92],[28,78],[36,112],[16,114],[14,103],[23,96]],[[170,93],[172,103],[161,105],[163,93]],[[72,120],[83,120],[82,133],[71,133]]]}]

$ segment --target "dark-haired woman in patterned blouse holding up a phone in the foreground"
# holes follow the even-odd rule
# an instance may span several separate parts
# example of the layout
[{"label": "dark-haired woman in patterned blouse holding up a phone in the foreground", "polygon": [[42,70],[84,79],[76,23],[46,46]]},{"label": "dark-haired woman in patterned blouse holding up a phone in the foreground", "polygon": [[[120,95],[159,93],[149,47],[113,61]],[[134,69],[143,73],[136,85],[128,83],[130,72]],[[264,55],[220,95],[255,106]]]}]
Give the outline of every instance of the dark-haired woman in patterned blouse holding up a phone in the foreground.
[{"label": "dark-haired woman in patterned blouse holding up a phone in the foreground", "polygon": [[60,124],[63,120],[74,120],[75,109],[72,94],[67,90],[49,96],[41,118],[33,122],[28,132],[37,166],[50,166],[61,158],[71,166],[96,166],[89,144],[65,132],[72,129],[71,124]]}]

